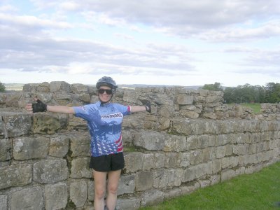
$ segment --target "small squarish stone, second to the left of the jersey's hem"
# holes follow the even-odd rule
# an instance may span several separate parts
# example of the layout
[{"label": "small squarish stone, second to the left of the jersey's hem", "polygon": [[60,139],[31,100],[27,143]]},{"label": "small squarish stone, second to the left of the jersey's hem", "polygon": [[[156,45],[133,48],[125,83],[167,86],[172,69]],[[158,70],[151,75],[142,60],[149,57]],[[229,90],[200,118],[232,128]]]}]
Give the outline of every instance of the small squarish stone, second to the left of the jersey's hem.
[{"label": "small squarish stone, second to the left of the jersey's hem", "polygon": [[62,158],[69,151],[69,137],[64,134],[58,134],[57,137],[50,138],[49,155],[52,157]]}]

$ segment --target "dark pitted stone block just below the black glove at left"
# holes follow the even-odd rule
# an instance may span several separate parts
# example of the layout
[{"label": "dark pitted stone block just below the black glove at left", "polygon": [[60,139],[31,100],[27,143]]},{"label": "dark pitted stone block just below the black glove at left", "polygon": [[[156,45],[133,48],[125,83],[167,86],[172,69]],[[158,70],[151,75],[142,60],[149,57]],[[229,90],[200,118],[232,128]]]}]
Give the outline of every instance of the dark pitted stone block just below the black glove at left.
[{"label": "dark pitted stone block just below the black glove at left", "polygon": [[33,116],[33,132],[36,134],[54,134],[66,128],[64,114],[36,114]]}]

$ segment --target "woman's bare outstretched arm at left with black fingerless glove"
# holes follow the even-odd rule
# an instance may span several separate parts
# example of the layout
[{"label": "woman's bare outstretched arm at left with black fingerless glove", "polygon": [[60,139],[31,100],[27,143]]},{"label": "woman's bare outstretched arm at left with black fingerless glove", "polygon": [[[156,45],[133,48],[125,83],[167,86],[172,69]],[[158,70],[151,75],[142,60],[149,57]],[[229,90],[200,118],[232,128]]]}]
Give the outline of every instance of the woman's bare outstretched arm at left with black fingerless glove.
[{"label": "woman's bare outstretched arm at left with black fingerless glove", "polygon": [[44,111],[50,111],[50,112],[55,112],[55,113],[69,113],[69,114],[74,114],[75,111],[73,107],[69,106],[52,106],[52,105],[47,105],[41,102],[38,99],[34,99],[36,101],[35,104],[27,104],[25,106],[25,109],[30,112],[44,112]]}]

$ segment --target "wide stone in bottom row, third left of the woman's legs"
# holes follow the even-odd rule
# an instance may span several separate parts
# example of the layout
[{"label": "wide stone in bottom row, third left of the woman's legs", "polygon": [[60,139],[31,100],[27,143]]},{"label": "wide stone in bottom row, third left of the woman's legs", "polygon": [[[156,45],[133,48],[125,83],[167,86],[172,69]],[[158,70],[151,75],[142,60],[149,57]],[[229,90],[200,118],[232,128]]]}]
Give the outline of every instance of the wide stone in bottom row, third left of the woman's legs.
[{"label": "wide stone in bottom row, third left of the woman's legs", "polygon": [[10,209],[44,209],[42,189],[34,187],[16,191],[11,195]]}]

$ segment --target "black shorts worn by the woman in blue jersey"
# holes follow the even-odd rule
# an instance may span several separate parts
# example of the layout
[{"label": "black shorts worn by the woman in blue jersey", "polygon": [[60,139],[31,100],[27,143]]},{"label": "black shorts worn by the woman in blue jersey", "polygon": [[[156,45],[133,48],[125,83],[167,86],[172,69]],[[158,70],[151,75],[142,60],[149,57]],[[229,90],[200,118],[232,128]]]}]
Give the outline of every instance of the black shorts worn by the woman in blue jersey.
[{"label": "black shorts worn by the woman in blue jersey", "polygon": [[90,158],[90,169],[94,169],[97,172],[118,171],[124,167],[125,158],[123,158],[123,153]]}]

